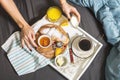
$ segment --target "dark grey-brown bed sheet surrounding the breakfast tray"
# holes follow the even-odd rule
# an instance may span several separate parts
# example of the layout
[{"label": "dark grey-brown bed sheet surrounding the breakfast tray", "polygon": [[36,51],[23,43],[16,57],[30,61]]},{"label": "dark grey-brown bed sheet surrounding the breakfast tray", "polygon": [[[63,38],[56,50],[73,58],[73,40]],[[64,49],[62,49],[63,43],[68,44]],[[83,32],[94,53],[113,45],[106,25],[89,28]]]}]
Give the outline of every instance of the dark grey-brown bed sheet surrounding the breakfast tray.
[{"label": "dark grey-brown bed sheet surrounding the breakfast tray", "polygon": [[[25,20],[32,25],[41,19],[50,6],[59,6],[58,0],[14,0],[19,11]],[[70,3],[70,2],[69,2]],[[105,62],[109,54],[110,44],[106,42],[106,37],[102,25],[97,21],[94,14],[84,7],[75,6],[81,14],[80,27],[87,31],[103,44],[102,49],[95,57],[91,65],[79,80],[105,80]],[[0,7],[0,46],[10,37],[10,35],[20,30],[12,18]],[[52,67],[46,66],[36,72],[18,76],[10,64],[7,53],[0,47],[0,80],[67,80]]]}]

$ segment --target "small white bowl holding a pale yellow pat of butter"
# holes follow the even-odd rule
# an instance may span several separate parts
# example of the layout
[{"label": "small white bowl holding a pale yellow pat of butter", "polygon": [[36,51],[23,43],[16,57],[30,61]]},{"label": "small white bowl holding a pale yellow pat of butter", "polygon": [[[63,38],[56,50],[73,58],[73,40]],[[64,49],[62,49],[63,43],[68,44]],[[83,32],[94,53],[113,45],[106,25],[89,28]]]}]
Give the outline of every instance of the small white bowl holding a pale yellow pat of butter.
[{"label": "small white bowl holding a pale yellow pat of butter", "polygon": [[59,68],[64,68],[67,66],[68,60],[64,55],[58,55],[55,58],[55,65]]}]

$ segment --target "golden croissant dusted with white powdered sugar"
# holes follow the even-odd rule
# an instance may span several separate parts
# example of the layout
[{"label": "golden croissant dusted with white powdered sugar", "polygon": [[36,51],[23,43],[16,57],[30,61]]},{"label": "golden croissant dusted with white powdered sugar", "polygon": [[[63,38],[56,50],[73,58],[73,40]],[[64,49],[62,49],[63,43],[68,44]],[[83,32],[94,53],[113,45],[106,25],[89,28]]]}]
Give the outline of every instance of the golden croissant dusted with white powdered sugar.
[{"label": "golden croissant dusted with white powdered sugar", "polygon": [[39,33],[51,36],[53,42],[62,41],[64,44],[67,44],[69,42],[67,33],[58,25],[44,25],[39,29]]}]

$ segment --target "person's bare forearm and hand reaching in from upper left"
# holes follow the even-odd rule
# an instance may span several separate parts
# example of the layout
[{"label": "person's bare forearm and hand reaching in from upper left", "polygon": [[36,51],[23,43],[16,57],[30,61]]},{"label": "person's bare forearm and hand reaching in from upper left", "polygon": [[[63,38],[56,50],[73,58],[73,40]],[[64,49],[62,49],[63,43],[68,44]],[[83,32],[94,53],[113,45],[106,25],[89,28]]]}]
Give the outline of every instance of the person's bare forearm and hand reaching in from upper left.
[{"label": "person's bare forearm and hand reaching in from upper left", "polygon": [[0,5],[8,12],[8,14],[14,19],[21,28],[21,45],[25,45],[32,50],[33,47],[37,47],[35,40],[35,33],[29,24],[25,21],[21,13],[16,7],[13,0],[0,0]]}]

